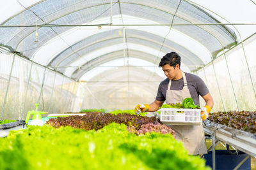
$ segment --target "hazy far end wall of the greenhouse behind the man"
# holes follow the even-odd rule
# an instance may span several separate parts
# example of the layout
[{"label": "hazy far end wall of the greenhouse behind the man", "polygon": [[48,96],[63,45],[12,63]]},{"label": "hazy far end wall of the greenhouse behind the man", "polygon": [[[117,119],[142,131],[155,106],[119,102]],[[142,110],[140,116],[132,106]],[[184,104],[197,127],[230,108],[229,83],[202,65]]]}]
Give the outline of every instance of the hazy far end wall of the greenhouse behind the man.
[{"label": "hazy far end wall of the greenhouse behind the man", "polygon": [[[100,83],[86,83],[84,85],[86,95],[83,98],[82,108],[106,108],[109,111],[131,110],[138,103],[152,103],[156,98],[159,83],[160,81],[110,82],[107,86]],[[98,91],[95,89],[96,86]]]}]

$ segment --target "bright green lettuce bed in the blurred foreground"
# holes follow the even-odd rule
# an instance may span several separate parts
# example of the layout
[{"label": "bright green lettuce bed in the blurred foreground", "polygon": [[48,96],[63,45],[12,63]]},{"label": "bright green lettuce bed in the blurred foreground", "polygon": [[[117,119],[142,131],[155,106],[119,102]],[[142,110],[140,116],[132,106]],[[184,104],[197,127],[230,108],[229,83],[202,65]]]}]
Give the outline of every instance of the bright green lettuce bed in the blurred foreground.
[{"label": "bright green lettuce bed in the blurred foreground", "polygon": [[0,169],[209,169],[170,134],[136,136],[116,123],[99,131],[28,126],[0,143]]}]

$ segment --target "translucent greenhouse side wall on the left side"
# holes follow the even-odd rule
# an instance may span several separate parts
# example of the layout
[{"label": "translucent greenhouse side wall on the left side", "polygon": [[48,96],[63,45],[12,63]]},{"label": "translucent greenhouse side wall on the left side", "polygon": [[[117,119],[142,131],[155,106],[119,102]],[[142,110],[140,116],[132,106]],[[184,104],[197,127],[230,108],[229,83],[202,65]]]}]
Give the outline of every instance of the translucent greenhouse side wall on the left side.
[{"label": "translucent greenhouse side wall on the left side", "polygon": [[76,81],[13,54],[0,53],[0,66],[1,120],[24,119],[35,103],[49,113],[75,109]]}]

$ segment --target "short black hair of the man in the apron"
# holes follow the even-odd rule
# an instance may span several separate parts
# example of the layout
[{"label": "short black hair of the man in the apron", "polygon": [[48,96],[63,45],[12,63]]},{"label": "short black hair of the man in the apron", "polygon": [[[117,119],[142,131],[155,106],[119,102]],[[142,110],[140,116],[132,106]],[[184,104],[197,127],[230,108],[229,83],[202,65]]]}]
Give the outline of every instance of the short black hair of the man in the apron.
[{"label": "short black hair of the man in the apron", "polygon": [[177,64],[180,66],[179,54],[175,52],[166,53],[166,55],[161,59],[159,67],[163,67],[165,64],[170,64],[173,68],[175,68]]}]

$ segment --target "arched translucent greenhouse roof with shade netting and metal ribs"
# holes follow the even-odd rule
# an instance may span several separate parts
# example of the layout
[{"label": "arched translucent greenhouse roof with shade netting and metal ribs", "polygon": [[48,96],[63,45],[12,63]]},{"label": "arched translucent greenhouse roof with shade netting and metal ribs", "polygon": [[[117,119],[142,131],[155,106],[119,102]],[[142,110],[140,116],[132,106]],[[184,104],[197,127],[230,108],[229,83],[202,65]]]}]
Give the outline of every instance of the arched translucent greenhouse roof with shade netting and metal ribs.
[{"label": "arched translucent greenhouse roof with shade netting and metal ribs", "polygon": [[75,80],[88,80],[86,73],[111,61],[127,68],[140,59],[157,67],[172,51],[193,72],[255,33],[255,25],[232,25],[256,23],[253,6],[231,0],[11,0],[0,7],[0,43]]}]

